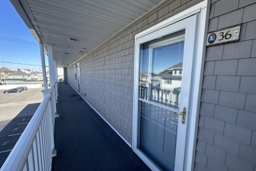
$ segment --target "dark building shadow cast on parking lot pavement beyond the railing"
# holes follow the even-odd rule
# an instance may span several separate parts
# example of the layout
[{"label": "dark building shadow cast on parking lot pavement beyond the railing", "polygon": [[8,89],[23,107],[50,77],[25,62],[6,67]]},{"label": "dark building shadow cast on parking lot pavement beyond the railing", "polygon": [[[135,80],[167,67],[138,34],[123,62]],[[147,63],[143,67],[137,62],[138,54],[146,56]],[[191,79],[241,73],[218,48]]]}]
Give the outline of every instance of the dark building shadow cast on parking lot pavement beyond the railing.
[{"label": "dark building shadow cast on parking lot pavement beyond the railing", "polygon": [[12,151],[40,103],[28,104],[12,120],[0,121],[0,167]]}]

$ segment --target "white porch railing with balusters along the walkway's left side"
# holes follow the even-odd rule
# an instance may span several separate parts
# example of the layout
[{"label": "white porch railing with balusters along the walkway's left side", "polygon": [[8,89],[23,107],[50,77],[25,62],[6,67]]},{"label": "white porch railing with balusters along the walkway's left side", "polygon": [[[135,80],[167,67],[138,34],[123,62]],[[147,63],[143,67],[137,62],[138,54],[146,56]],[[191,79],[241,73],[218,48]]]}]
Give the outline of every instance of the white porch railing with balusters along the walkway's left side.
[{"label": "white porch railing with balusters along the walkway's left side", "polygon": [[42,90],[42,100],[23,134],[10,152],[1,171],[51,170],[54,146],[54,123],[56,117],[58,83]]}]

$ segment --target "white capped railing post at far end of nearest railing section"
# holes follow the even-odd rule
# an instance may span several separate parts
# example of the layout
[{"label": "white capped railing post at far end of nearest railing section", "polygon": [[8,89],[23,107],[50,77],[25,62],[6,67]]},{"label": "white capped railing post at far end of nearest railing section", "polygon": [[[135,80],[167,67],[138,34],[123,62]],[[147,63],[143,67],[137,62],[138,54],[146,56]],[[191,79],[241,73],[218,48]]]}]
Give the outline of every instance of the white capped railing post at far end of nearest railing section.
[{"label": "white capped railing post at far end of nearest railing section", "polygon": [[57,151],[55,150],[55,144],[54,144],[54,122],[55,122],[55,111],[54,107],[52,107],[52,94],[54,94],[54,92],[52,91],[52,89],[45,89],[41,91],[42,93],[44,93],[44,98],[46,97],[50,97],[50,100],[48,102],[48,114],[49,114],[49,125],[50,125],[50,139],[51,139],[51,150],[52,150],[52,157],[57,155]]}]

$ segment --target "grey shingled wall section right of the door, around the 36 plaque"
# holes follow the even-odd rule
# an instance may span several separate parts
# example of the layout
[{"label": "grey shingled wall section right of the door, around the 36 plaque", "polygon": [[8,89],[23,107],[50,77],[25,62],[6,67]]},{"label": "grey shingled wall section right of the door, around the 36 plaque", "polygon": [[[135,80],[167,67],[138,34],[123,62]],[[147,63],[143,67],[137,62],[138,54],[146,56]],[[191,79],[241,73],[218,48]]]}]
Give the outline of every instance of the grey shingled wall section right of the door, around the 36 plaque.
[{"label": "grey shingled wall section right of the door, around the 36 plaque", "polygon": [[195,170],[256,170],[256,1],[211,1],[208,31],[242,24],[206,49]]}]

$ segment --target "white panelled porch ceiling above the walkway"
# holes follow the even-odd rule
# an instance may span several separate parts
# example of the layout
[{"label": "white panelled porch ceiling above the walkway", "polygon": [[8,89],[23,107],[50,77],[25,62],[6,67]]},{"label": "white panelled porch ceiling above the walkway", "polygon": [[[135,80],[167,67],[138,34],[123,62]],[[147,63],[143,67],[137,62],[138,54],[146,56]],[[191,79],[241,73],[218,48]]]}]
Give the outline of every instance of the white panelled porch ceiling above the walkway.
[{"label": "white panelled porch ceiling above the walkway", "polygon": [[86,54],[163,0],[10,1],[29,29],[35,30],[35,37],[54,45],[57,66],[67,67],[82,56],[79,51]]}]

